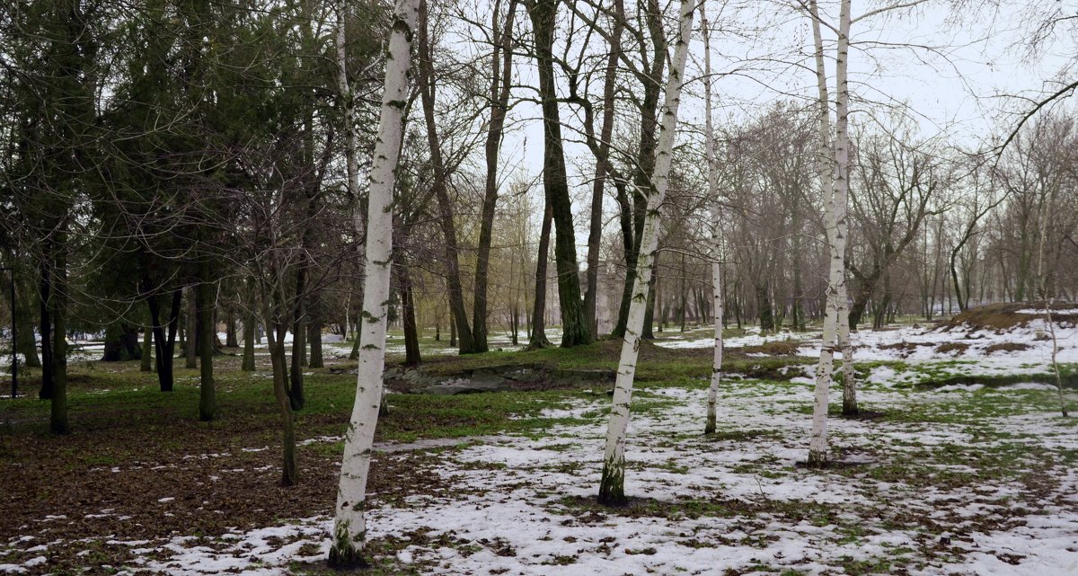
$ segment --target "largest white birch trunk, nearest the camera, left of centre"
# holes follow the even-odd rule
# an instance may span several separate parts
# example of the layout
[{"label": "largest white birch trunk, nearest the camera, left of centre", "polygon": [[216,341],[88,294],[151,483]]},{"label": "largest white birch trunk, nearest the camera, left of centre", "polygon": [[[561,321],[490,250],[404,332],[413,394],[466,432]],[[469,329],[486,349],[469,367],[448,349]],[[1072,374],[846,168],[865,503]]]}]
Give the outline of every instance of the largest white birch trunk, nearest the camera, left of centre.
[{"label": "largest white birch trunk, nearest the camera, left of centre", "polygon": [[359,349],[356,403],[345,433],[344,464],[341,467],[329,558],[330,564],[338,567],[360,564],[367,544],[363,519],[367,475],[371,467],[371,447],[374,443],[386,358],[386,313],[392,249],[391,203],[407,98],[412,36],[418,12],[418,0],[397,0],[389,37],[378,141],[371,167],[367,269],[360,315],[363,345]]}]

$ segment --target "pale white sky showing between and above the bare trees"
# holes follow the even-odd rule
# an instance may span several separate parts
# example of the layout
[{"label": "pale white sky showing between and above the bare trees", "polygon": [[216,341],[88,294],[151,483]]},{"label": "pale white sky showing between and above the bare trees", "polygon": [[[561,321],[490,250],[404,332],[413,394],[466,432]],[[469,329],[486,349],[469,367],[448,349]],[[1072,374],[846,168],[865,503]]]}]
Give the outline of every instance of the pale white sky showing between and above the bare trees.
[{"label": "pale white sky showing between and above the bare trees", "polygon": [[[853,14],[856,18],[888,3],[894,2],[855,0]],[[903,114],[916,122],[920,136],[942,136],[952,142],[977,148],[993,132],[998,134],[999,126],[1010,126],[1017,120],[1017,110],[1024,110],[1022,102],[1001,95],[1045,92],[1046,81],[1056,78],[1059,70],[1076,58],[1073,28],[1058,30],[1054,44],[1044,46],[1045,53],[1037,58],[1028,58],[1026,46],[1020,42],[1020,35],[1027,27],[1023,17],[1031,10],[1025,2],[1012,2],[982,13],[970,10],[954,12],[954,3],[929,1],[912,10],[855,22],[849,58],[852,122],[887,122],[886,114],[881,113],[883,106],[902,105]],[[728,30],[749,30],[746,36],[750,38],[737,38],[735,32],[715,30],[711,36],[713,69],[716,72],[745,67],[754,70],[717,79],[714,87],[717,125],[743,120],[777,99],[813,97],[815,77],[810,68],[805,68],[814,66],[807,18],[796,13],[790,8],[791,2],[774,1],[749,2],[750,8],[729,19],[733,12],[728,10],[720,15],[722,4],[707,1],[713,27],[718,22]],[[1074,1],[1060,4],[1041,0],[1040,4],[1078,12],[1078,2]],[[677,2],[665,5],[667,14],[676,16]],[[626,9],[631,10],[630,6]],[[838,23],[837,1],[821,2],[820,9],[825,22]],[[562,12],[566,10],[563,8]],[[692,57],[687,70],[689,78],[701,73],[703,63],[699,12],[696,16]],[[529,27],[526,14],[521,13],[517,30]],[[673,19],[667,22],[667,29],[674,29]],[[825,42],[833,42],[834,33],[827,27],[824,28],[824,36]],[[561,43],[565,39],[557,38],[556,41]],[[595,37],[593,42],[602,44],[603,41]],[[598,45],[596,50],[604,47]],[[832,44],[828,54],[828,74],[834,73],[833,56]],[[522,84],[537,83],[533,61],[517,58],[514,74]],[[602,81],[602,74],[596,76]],[[829,79],[829,85],[833,91],[833,79]],[[687,86],[687,90],[689,92],[682,96],[679,118],[682,128],[689,124],[703,124],[702,86],[696,83]],[[599,94],[600,88],[594,90],[594,93]],[[563,123],[573,123],[568,106],[563,105],[561,111]],[[502,149],[506,164],[516,166],[516,174],[510,178],[534,178],[542,168],[542,127],[538,107],[521,104],[511,112],[510,121],[514,127],[507,134]],[[575,135],[564,129],[563,136],[569,138]],[[594,160],[582,145],[567,143],[566,154],[570,188],[577,200],[575,221],[582,258],[591,194],[586,178],[591,177]],[[537,187],[536,194],[537,197],[541,194],[541,187]],[[542,204],[540,201],[534,205]],[[612,214],[613,210],[613,202],[608,197],[605,211]]]}]

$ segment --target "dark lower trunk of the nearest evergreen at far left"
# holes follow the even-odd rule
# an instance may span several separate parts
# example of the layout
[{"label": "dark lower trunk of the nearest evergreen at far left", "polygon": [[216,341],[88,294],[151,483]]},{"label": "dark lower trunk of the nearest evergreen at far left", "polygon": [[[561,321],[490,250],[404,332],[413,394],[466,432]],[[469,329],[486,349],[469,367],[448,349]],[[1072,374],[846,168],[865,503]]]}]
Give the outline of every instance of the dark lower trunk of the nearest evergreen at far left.
[{"label": "dark lower trunk of the nearest evergreen at far left", "polygon": [[53,394],[49,429],[53,434],[71,431],[67,417],[67,251],[66,234],[57,231],[50,266],[49,313],[53,319]]}]

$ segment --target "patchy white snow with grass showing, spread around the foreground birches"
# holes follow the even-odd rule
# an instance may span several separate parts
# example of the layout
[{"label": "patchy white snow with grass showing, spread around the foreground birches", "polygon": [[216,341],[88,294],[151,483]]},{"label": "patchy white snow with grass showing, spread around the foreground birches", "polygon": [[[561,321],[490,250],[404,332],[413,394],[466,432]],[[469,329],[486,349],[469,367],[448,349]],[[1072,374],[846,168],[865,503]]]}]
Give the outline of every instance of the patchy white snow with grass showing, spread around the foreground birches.
[{"label": "patchy white snow with grass showing, spread around the foreground birches", "polygon": [[[727,384],[711,438],[700,434],[705,390],[639,390],[626,509],[593,504],[608,400],[579,396],[550,414],[578,424],[443,451],[437,474],[455,493],[372,507],[369,535],[392,550],[382,561],[431,575],[1078,574],[1078,438],[1048,412],[1052,393],[887,379],[874,372],[861,401],[894,417],[832,419],[827,470],[798,466],[807,384]],[[323,560],[330,525],[141,544],[130,568],[279,575]]]}]

